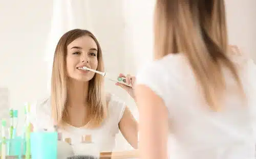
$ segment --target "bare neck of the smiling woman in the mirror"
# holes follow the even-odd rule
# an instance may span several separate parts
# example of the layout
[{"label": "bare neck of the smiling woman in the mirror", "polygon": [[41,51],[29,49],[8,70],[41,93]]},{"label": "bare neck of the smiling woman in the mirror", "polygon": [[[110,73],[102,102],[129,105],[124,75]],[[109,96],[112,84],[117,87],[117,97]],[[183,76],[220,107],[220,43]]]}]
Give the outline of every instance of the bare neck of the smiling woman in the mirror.
[{"label": "bare neck of the smiling woman in the mirror", "polygon": [[89,82],[69,81],[67,104],[70,107],[81,107],[87,104]]}]

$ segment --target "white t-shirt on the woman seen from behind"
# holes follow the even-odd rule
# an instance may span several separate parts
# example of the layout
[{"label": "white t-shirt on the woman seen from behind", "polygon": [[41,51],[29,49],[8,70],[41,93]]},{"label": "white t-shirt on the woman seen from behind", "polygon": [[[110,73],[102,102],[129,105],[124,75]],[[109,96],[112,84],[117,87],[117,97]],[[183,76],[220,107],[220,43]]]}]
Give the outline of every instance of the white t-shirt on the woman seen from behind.
[{"label": "white t-shirt on the woman seen from behind", "polygon": [[248,104],[242,100],[236,82],[223,68],[226,80],[225,105],[222,112],[212,112],[199,93],[195,75],[184,54],[170,54],[141,68],[137,85],[151,88],[168,110],[170,135],[176,147],[169,156],[193,159],[255,158],[256,66],[252,60],[233,57],[239,66]]}]

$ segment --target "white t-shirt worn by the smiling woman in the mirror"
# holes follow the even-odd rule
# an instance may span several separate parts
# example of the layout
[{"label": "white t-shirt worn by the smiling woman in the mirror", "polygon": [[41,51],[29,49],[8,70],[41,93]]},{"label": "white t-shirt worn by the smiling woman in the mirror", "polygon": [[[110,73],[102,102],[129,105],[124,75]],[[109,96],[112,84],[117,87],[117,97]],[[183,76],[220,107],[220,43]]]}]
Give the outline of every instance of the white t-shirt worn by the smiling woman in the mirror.
[{"label": "white t-shirt worn by the smiling woman in the mirror", "polygon": [[[65,130],[58,129],[62,134],[62,139],[71,138],[74,154],[94,154],[92,151],[112,151],[116,144],[116,134],[119,133],[118,123],[122,118],[125,103],[113,94],[109,100],[109,117],[102,126],[94,129],[68,126]],[[32,124],[35,129],[53,130],[53,120],[51,118],[50,98],[38,101],[31,107]],[[92,144],[82,144],[81,137],[91,135]],[[59,150],[58,153],[62,153]]]}]

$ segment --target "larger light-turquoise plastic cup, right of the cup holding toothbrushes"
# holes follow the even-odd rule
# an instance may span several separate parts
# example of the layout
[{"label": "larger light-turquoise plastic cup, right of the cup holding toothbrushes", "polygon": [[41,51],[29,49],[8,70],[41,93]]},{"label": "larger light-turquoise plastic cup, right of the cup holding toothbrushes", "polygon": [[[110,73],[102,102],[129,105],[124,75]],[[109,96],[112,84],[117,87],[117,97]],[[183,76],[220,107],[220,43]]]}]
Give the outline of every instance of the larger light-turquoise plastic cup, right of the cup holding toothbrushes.
[{"label": "larger light-turquoise plastic cup, right of the cup holding toothbrushes", "polygon": [[34,132],[30,134],[32,159],[57,159],[57,132]]}]

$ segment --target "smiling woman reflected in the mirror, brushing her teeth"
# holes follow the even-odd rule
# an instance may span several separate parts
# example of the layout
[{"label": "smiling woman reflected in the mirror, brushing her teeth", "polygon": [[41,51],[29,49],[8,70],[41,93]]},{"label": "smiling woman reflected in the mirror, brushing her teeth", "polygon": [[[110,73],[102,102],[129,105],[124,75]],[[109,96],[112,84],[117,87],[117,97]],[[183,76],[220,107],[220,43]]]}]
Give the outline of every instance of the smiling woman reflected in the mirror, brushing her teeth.
[{"label": "smiling woman reflected in the mirror, brushing her teeth", "polygon": [[[92,142],[92,148],[98,145],[99,151],[112,151],[120,129],[124,138],[137,148],[137,121],[131,111],[117,97],[104,92],[103,76],[82,70],[83,66],[104,71],[101,48],[91,32],[71,30],[56,46],[51,96],[33,107],[34,130],[52,129],[57,125],[62,138],[70,138],[73,147],[81,142]],[[134,80],[127,75],[128,84],[133,86]],[[116,85],[134,97],[131,87]]]}]

